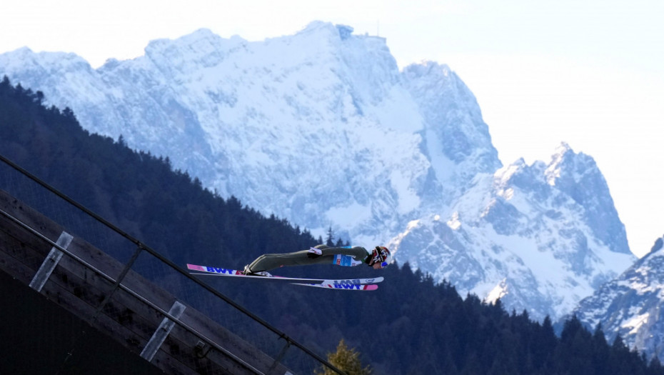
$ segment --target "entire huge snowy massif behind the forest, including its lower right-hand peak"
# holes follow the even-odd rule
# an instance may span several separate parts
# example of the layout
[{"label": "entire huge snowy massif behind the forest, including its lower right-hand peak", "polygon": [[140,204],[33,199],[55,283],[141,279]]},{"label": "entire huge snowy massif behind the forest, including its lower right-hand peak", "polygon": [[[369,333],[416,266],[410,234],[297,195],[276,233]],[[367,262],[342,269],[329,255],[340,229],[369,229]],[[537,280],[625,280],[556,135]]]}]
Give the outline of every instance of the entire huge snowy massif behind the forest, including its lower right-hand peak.
[{"label": "entire huge snowy massif behind the forest, including its lower right-hand peak", "polygon": [[590,156],[563,144],[548,164],[503,167],[448,66],[399,71],[385,39],[352,31],[316,21],[250,42],[201,29],[99,69],[24,48],[0,55],[0,74],[221,196],[316,235],[390,243],[401,263],[535,318],[633,263]]}]

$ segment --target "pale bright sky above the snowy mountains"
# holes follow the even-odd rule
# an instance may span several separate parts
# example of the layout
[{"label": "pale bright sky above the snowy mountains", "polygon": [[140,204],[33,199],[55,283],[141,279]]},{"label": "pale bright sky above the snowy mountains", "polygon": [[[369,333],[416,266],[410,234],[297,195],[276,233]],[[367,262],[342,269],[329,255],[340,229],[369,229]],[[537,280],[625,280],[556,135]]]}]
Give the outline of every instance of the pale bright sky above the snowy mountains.
[{"label": "pale bright sky above the snowy mountains", "polygon": [[[241,5],[239,5],[241,4]],[[608,181],[635,254],[664,234],[664,1],[4,1],[0,53],[69,51],[97,67],[201,27],[248,40],[313,20],[379,34],[400,66],[448,64],[476,95],[503,164],[560,141]]]}]

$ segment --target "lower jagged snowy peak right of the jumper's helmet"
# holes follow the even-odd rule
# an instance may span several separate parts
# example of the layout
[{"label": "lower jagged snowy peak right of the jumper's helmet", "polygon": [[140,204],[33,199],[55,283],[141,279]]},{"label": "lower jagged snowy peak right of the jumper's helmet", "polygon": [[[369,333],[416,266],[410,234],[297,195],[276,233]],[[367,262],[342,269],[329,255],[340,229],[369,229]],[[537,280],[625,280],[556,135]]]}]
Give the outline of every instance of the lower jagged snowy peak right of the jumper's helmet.
[{"label": "lower jagged snowy peak right of the jumper's helmet", "polygon": [[462,293],[500,298],[538,319],[560,316],[633,259],[610,200],[593,159],[562,144],[549,164],[519,160],[478,174],[394,244],[401,259],[455,280]]}]

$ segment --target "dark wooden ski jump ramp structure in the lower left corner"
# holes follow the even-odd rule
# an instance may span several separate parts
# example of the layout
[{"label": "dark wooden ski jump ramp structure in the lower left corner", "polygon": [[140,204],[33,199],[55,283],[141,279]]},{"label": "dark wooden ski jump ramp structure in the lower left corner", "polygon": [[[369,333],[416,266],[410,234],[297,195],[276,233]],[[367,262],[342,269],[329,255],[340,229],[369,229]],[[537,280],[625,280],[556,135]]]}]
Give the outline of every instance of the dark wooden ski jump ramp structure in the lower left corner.
[{"label": "dark wooden ski jump ramp structure in the lower left corner", "polygon": [[[11,285],[29,286],[23,288],[24,298],[0,295],[5,310],[0,316],[21,311],[23,321],[45,322],[21,328],[0,321],[5,369],[39,364],[54,372],[76,372],[76,366],[85,368],[85,359],[98,364],[99,375],[106,374],[108,358],[119,353],[126,374],[151,369],[165,374],[291,374],[279,361],[5,191],[0,191],[0,274]],[[36,297],[86,324],[54,330],[54,315],[26,310],[35,306],[28,301]],[[45,341],[48,334],[34,333],[39,326],[51,326],[55,344]],[[115,349],[89,347],[95,334],[115,341]]]}]

